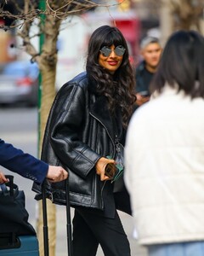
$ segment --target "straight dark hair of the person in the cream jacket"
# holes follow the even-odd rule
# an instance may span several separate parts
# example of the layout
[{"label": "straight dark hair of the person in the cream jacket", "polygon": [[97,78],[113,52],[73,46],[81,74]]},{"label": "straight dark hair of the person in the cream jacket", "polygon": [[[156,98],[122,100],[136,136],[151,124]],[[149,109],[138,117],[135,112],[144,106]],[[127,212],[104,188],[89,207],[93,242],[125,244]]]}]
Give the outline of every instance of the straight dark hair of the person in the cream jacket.
[{"label": "straight dark hair of the person in the cream jacket", "polygon": [[161,55],[150,84],[151,92],[161,93],[165,84],[177,86],[186,95],[204,97],[204,38],[195,31],[173,32]]}]

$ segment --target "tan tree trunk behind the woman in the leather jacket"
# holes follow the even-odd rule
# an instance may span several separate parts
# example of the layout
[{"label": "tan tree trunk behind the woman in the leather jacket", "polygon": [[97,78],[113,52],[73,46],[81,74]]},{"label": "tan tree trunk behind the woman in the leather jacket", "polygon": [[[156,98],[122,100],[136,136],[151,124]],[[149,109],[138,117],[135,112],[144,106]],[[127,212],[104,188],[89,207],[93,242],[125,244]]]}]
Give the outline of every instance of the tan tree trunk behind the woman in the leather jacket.
[{"label": "tan tree trunk behind the woman in the leather jacket", "polygon": [[[53,16],[47,16],[45,26],[42,31],[46,31],[45,40],[42,46],[42,54],[39,58],[39,67],[42,75],[42,98],[40,113],[40,145],[42,148],[42,139],[45,126],[48,119],[48,113],[52,106],[55,96],[55,77],[57,65],[57,38],[61,20],[55,20]],[[42,232],[42,202],[38,204],[39,212],[37,219],[37,237],[39,241],[39,252],[43,256],[43,232]],[[49,236],[49,254],[55,255],[56,247],[56,206],[47,201],[48,212],[48,236]]]}]

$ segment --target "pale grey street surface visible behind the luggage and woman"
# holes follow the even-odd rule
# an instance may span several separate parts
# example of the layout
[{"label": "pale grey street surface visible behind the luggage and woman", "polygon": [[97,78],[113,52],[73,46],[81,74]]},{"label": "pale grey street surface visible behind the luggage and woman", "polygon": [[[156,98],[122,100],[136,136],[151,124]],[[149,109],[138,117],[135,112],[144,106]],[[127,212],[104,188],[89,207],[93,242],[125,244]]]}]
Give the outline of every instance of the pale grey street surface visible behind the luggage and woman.
[{"label": "pale grey street surface visible behind the luggage and woman", "polygon": [[[37,108],[5,108],[0,107],[0,131],[1,138],[25,152],[37,156]],[[1,170],[5,174],[14,175],[14,182],[26,194],[26,210],[30,214],[29,222],[36,228],[37,201],[34,200],[35,193],[31,191],[32,182],[20,175],[8,170]],[[122,224],[127,232],[131,244],[132,256],[146,256],[144,247],[139,247],[137,240],[133,239],[133,219],[125,213],[119,212]],[[73,214],[71,210],[71,215]],[[56,256],[67,256],[66,245],[66,222],[65,207],[57,207],[57,247]],[[103,256],[101,249],[97,256]]]}]

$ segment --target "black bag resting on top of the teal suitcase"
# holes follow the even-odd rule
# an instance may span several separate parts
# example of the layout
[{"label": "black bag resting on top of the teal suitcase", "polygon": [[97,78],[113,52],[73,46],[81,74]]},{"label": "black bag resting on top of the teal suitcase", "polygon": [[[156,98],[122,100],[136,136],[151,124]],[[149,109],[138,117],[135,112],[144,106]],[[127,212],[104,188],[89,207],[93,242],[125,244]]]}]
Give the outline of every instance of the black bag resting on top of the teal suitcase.
[{"label": "black bag resting on top of the teal suitcase", "polygon": [[14,184],[14,176],[6,177],[9,182],[0,184],[0,234],[36,235],[36,231],[28,223],[24,191]]}]

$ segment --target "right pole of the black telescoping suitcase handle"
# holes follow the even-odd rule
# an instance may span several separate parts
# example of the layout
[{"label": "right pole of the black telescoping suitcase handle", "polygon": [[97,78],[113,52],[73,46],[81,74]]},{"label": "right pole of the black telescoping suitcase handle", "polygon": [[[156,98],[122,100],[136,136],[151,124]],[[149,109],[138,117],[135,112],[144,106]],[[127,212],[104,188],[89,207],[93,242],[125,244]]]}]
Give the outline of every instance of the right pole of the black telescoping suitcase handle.
[{"label": "right pole of the black telescoping suitcase handle", "polygon": [[73,248],[71,241],[71,206],[70,206],[70,186],[69,176],[65,182],[65,195],[66,195],[66,232],[67,232],[67,250],[68,256],[73,256]]}]

